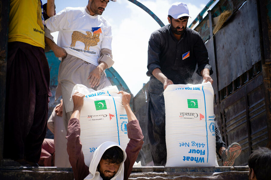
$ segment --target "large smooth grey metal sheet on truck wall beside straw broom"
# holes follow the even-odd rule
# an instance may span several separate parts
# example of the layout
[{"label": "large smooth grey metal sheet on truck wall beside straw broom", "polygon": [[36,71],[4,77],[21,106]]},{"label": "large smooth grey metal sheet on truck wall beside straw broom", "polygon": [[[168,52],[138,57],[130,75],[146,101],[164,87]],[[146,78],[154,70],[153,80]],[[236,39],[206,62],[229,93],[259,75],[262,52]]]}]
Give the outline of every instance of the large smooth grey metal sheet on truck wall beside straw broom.
[{"label": "large smooth grey metal sheet on truck wall beside straw broom", "polygon": [[218,90],[261,60],[257,3],[248,0],[215,36]]}]

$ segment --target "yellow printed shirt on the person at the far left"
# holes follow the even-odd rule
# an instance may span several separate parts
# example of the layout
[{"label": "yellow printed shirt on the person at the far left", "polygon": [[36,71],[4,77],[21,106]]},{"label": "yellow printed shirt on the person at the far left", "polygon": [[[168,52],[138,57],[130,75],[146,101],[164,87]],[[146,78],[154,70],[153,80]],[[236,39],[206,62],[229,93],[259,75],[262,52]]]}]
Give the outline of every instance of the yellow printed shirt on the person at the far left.
[{"label": "yellow printed shirt on the person at the far left", "polygon": [[40,0],[11,0],[8,42],[20,41],[44,48]]}]

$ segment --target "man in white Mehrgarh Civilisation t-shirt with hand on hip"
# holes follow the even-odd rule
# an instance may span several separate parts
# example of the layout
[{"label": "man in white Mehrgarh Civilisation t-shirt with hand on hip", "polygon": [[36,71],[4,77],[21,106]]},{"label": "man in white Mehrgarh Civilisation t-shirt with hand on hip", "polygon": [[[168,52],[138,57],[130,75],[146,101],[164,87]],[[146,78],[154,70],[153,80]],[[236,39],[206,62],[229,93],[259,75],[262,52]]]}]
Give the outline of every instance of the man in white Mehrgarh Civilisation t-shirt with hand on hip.
[{"label": "man in white Mehrgarh Civilisation t-shirt with hand on hip", "polygon": [[[117,0],[111,0],[117,1]],[[63,98],[63,121],[67,130],[72,114],[73,86],[95,90],[111,85],[104,70],[114,64],[111,25],[101,16],[109,0],[89,0],[86,7],[66,7],[45,21],[50,32],[59,31],[57,45],[45,33],[45,42],[61,61],[55,99]]]}]

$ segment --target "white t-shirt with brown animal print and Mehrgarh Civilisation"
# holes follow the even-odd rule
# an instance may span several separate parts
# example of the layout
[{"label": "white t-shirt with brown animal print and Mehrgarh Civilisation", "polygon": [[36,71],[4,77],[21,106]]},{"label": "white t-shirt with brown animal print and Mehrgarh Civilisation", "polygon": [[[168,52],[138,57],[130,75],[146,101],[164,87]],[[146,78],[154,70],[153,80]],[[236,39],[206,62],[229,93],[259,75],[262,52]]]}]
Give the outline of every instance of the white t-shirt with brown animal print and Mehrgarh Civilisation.
[{"label": "white t-shirt with brown animal print and Mehrgarh Civilisation", "polygon": [[68,54],[98,66],[101,49],[111,50],[111,25],[100,15],[89,15],[85,8],[66,7],[45,25],[50,32],[59,31],[57,44]]}]

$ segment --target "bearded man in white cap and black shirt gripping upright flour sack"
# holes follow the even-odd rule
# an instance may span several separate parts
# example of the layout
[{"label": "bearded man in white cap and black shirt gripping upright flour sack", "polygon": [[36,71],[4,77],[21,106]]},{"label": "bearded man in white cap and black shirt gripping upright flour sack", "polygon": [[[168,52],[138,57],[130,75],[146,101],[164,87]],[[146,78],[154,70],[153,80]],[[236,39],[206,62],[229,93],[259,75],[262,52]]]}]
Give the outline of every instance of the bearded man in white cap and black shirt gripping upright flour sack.
[{"label": "bearded man in white cap and black shirt gripping upright flour sack", "polygon": [[[170,24],[154,31],[149,40],[148,137],[155,166],[164,166],[167,159],[164,89],[170,84],[192,83],[197,64],[198,75],[205,82],[213,83],[207,49],[199,33],[187,27],[189,17],[185,3],[173,3],[168,11]],[[222,156],[224,166],[231,166],[240,154],[241,146],[234,143],[226,149],[217,123],[215,125],[217,153]]]}]

